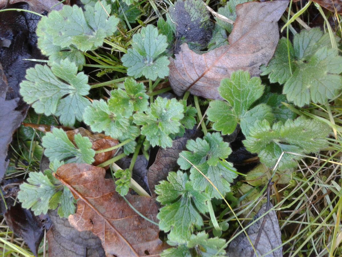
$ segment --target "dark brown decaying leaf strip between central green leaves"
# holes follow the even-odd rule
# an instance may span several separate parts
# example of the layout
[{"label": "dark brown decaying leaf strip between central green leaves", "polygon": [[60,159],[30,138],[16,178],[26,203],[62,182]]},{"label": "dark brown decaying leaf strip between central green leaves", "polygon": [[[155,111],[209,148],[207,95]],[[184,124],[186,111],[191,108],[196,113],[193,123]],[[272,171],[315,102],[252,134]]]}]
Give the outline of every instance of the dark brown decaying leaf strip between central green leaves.
[{"label": "dark brown decaying leaf strip between central green leaves", "polygon": [[159,181],[165,180],[170,171],[175,171],[179,167],[177,164],[179,153],[185,150],[187,140],[196,132],[196,130],[187,130],[183,137],[173,140],[172,147],[159,148],[154,163],[147,171],[148,186],[153,197],[156,195],[154,190]]}]

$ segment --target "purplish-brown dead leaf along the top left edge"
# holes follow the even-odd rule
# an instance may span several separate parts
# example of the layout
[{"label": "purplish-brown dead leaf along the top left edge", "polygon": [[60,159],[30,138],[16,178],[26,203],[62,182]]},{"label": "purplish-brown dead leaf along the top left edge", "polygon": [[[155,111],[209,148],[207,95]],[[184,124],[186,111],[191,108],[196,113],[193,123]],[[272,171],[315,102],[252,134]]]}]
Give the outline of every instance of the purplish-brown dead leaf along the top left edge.
[{"label": "purplish-brown dead leaf along the top left edge", "polygon": [[[43,13],[44,11],[51,12],[52,10],[59,11],[63,8],[63,4],[60,3],[60,1],[58,0],[1,0],[0,9],[5,8],[9,4],[15,4],[19,2],[25,2],[29,4],[30,10],[37,13]],[[51,9],[51,7],[53,7],[54,5],[56,6]]]}]

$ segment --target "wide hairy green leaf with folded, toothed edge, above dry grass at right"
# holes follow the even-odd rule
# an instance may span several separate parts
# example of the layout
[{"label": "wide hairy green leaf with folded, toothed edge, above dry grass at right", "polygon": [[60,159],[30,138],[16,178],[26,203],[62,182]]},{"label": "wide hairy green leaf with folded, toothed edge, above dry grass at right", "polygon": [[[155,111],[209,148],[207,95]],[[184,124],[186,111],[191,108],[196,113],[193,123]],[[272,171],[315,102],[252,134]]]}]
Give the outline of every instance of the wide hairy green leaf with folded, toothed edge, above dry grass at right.
[{"label": "wide hairy green leaf with folded, toothed edge, above dry grass at right", "polygon": [[[243,141],[246,149],[258,153],[262,163],[273,167],[283,151],[297,154],[318,152],[328,145],[329,127],[312,119],[299,117],[271,126],[268,121],[257,121],[250,129],[250,134]],[[285,170],[296,166],[300,156],[284,154],[278,169]]]}]

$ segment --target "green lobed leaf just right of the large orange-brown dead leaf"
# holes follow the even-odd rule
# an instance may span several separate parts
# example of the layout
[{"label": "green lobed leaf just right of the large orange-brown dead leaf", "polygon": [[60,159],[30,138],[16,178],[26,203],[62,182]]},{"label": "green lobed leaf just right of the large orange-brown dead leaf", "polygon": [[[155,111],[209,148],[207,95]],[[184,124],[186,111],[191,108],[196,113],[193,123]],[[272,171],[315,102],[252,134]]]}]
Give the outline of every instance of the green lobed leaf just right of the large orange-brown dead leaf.
[{"label": "green lobed leaf just right of the large orange-brown dead leaf", "polygon": [[199,212],[208,211],[205,193],[196,192],[188,181],[186,173],[170,172],[168,181],[161,181],[156,185],[157,201],[166,206],[162,207],[157,218],[159,228],[170,231],[168,239],[171,242],[185,243],[189,240],[194,228],[203,225]]}]

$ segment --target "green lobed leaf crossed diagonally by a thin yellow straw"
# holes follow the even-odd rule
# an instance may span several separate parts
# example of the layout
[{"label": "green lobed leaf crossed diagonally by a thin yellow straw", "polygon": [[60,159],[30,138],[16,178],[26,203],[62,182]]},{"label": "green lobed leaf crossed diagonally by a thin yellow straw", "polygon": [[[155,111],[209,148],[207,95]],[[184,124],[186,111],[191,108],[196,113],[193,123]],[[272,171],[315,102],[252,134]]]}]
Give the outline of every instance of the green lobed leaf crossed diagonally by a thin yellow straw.
[{"label": "green lobed leaf crossed diagonally by a thin yellow straw", "polygon": [[[203,139],[197,138],[196,141],[190,139],[186,143],[186,148],[189,151],[182,151],[181,155],[205,174],[221,194],[225,195],[229,192],[230,183],[237,174],[230,162],[227,162],[225,166],[219,163],[220,159],[227,158],[232,152],[229,144],[223,142],[220,133],[208,133]],[[177,163],[183,170],[190,169],[190,180],[194,189],[208,192],[211,198],[221,198],[210,182],[182,156],[178,158]]]}]

